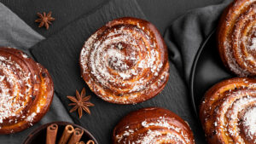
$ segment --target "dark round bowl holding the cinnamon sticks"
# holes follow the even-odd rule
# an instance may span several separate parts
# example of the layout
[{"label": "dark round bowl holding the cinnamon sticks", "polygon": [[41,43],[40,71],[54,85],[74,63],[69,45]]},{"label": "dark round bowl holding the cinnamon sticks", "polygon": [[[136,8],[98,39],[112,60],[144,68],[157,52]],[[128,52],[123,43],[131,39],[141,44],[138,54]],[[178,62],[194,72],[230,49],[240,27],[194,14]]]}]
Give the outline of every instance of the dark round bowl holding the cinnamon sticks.
[{"label": "dark round bowl holding the cinnamon sticks", "polygon": [[58,133],[57,133],[57,137],[56,137],[56,143],[59,142],[59,140],[61,139],[62,132],[65,129],[66,125],[70,124],[70,125],[73,125],[74,128],[80,128],[80,129],[84,130],[84,135],[82,136],[80,141],[84,141],[86,143],[86,141],[92,140],[92,141],[95,141],[95,144],[98,144],[95,137],[93,135],[91,135],[88,130],[84,129],[83,127],[79,126],[78,124],[72,124],[72,123],[68,123],[68,122],[52,122],[52,123],[41,125],[40,127],[38,127],[38,129],[33,130],[26,137],[26,140],[23,141],[23,144],[34,144],[34,143],[45,144],[46,130],[50,124],[58,125]]}]

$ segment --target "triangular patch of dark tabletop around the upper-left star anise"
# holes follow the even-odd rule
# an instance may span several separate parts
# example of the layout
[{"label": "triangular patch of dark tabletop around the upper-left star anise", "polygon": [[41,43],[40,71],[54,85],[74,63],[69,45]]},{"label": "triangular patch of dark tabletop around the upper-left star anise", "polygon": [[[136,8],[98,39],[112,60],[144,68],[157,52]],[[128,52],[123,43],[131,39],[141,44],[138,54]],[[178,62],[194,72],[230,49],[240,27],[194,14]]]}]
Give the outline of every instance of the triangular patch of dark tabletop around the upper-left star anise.
[{"label": "triangular patch of dark tabletop around the upper-left star anise", "polygon": [[[44,37],[58,32],[64,26],[67,26],[73,20],[79,18],[83,14],[94,11],[102,3],[108,3],[109,0],[44,0],[44,1],[31,1],[31,0],[0,0],[15,14],[20,16],[22,20],[26,21],[28,26],[42,34]],[[38,23],[34,20],[38,19],[37,13],[52,11],[52,16],[55,18],[52,26],[49,26],[49,30],[45,31],[44,28],[38,28]]]}]

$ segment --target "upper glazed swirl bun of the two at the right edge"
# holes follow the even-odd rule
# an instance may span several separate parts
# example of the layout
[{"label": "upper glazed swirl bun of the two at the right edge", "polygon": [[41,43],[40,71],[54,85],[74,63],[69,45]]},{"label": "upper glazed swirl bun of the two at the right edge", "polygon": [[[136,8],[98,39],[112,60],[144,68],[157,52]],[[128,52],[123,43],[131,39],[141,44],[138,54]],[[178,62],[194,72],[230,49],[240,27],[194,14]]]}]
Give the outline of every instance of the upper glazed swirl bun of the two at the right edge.
[{"label": "upper glazed swirl bun of the two at the right edge", "polygon": [[235,0],[218,27],[218,51],[224,66],[240,77],[256,76],[256,0]]}]

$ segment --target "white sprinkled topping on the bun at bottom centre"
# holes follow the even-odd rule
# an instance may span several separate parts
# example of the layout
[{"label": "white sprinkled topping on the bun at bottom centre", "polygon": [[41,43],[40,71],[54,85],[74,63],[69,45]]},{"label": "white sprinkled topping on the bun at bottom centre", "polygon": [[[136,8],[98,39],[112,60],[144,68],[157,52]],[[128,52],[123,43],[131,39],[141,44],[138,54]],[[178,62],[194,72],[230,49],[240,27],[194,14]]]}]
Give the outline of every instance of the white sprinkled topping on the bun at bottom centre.
[{"label": "white sprinkled topping on the bun at bottom centre", "polygon": [[[173,120],[173,119],[172,119]],[[158,144],[161,141],[177,141],[180,143],[194,143],[189,139],[189,135],[186,131],[170,123],[170,121],[165,117],[160,117],[156,122],[143,121],[141,123],[141,128],[131,130],[127,127],[121,135],[116,135],[119,143],[132,143],[132,144]],[[154,130],[154,128],[158,128]],[[143,129],[143,130],[142,130]],[[163,130],[159,130],[163,129]],[[166,129],[166,130],[165,130]],[[172,132],[174,130],[175,132]],[[140,131],[144,133],[141,134]],[[127,137],[133,137],[134,133],[137,132],[137,138],[132,139],[132,141],[127,140]]]}]

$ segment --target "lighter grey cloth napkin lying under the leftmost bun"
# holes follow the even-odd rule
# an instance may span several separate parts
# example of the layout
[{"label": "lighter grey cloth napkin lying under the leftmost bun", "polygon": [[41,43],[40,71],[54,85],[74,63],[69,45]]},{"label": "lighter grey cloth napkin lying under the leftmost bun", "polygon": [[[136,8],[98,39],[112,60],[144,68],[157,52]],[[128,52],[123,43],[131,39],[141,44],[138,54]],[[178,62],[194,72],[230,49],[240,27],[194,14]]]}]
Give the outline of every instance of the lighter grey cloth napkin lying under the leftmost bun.
[{"label": "lighter grey cloth napkin lying under the leftmost bun", "polygon": [[[27,26],[23,20],[0,3],[0,47],[8,46],[22,49],[30,55],[28,48],[43,40],[44,37]],[[1,98],[1,95],[0,95]],[[0,135],[0,143],[20,144],[26,136],[41,124],[52,121],[73,122],[61,104],[58,96],[54,96],[49,112],[42,120],[28,130],[13,135]]]}]

